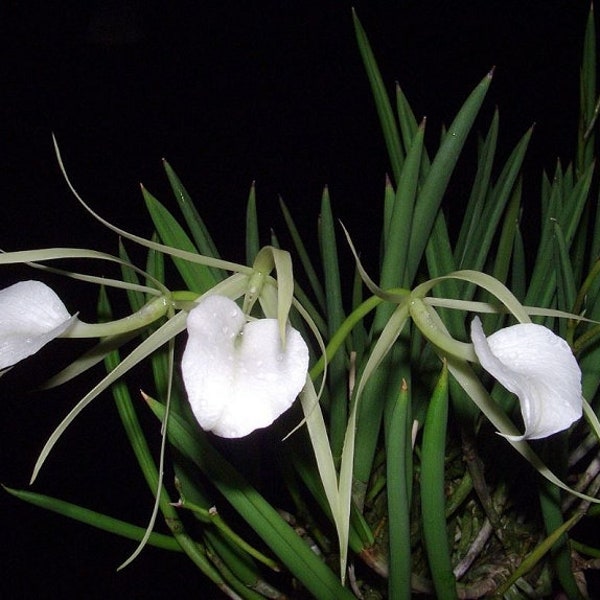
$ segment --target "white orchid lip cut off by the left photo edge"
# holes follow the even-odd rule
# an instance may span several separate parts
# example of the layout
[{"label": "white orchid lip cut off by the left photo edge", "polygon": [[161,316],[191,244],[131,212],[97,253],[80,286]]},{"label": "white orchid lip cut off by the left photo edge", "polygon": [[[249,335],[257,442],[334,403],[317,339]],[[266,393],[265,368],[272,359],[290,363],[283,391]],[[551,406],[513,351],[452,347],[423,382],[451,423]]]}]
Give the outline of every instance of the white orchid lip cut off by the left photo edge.
[{"label": "white orchid lip cut off by the left photo edge", "polygon": [[19,281],[0,290],[0,369],[35,354],[75,319],[41,281]]}]

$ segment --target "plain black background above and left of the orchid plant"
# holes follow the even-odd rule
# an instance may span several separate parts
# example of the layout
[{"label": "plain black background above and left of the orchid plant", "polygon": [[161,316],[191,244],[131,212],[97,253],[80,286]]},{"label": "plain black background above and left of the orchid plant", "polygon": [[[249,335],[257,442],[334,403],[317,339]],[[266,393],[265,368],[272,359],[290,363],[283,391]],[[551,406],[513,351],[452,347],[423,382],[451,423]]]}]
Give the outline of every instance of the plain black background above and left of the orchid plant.
[{"label": "plain black background above and left of the orchid plant", "polygon": [[[374,258],[388,162],[352,5],[389,89],[398,80],[415,114],[428,117],[430,148],[442,123],[495,65],[478,126],[487,128],[498,105],[506,157],[536,122],[526,163],[526,189],[534,198],[541,169],[573,156],[587,2],[5,2],[0,246],[116,251],[115,236],[69,195],[52,149],[54,132],[80,193],[140,235],[151,231],[140,181],[173,207],[160,163],[165,157],[225,258],[243,261],[253,180],[264,243],[271,226],[283,231],[279,194],[314,240],[328,184],[336,216],[367,260]],[[467,171],[473,156],[471,145],[461,163]],[[449,210],[460,212],[461,183],[458,176]],[[22,276],[7,268],[0,281],[4,286]],[[70,310],[93,318],[91,286],[50,281]],[[27,484],[46,437],[85,391],[24,391],[72,352],[72,344],[58,341],[2,382],[2,482]],[[134,388],[143,385],[143,374],[139,379]],[[34,489],[143,525],[152,499],[119,427],[110,399],[97,400],[57,446]],[[132,542],[5,495],[0,510],[3,597],[215,594],[177,556],[148,549],[116,574]]]}]

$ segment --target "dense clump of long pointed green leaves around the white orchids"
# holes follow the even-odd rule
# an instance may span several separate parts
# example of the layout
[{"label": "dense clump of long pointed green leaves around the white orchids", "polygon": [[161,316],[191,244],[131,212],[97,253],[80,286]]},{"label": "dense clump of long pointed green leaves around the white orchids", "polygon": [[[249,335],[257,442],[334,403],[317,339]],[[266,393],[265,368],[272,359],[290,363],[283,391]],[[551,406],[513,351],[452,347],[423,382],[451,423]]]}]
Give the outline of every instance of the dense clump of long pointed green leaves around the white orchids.
[{"label": "dense clump of long pointed green leaves around the white orchids", "polygon": [[[399,87],[390,100],[356,18],[355,27],[391,165],[383,193],[379,274],[375,285],[359,265],[353,277],[342,278],[338,240],[346,242],[335,226],[327,191],[321,204],[318,266],[282,203],[298,263],[308,282],[306,290],[296,284],[297,303],[290,318],[305,339],[315,339],[318,332],[326,344],[327,357],[323,358],[321,346],[315,344],[311,377],[323,385],[325,439],[315,439],[318,435],[309,416],[311,408],[305,406],[309,431],[295,431],[282,444],[270,442],[279,444],[279,491],[284,492],[287,512],[278,510],[281,506],[261,493],[264,477],[242,475],[235,456],[227,458],[227,448],[224,451],[196,425],[172,377],[172,338],[183,330],[184,317],[170,318],[145,330],[143,342],[156,336],[162,342],[169,341],[162,350],[148,352],[155,380],[152,395],[161,401],[149,396],[146,399],[153,413],[166,423],[166,439],[171,445],[168,456],[179,495],[176,503],[169,492],[172,486],[162,485],[164,454],[157,464],[127,385],[117,381],[123,361],[117,350],[108,348],[111,352],[105,353],[107,370],[116,375],[106,379],[103,388],[112,384],[140,468],[153,493],[158,491],[157,508],[169,534],[148,535],[143,528],[63,501],[30,492],[12,493],[116,534],[183,551],[232,598],[284,597],[292,593],[290,581],[299,582],[302,590],[323,600],[351,598],[353,592],[367,591],[390,598],[408,598],[413,591],[441,599],[476,598],[491,592],[526,598],[543,593],[555,579],[569,597],[580,597],[571,553],[597,557],[600,551],[568,540],[566,533],[583,518],[587,505],[573,506],[548,477],[539,481],[530,477],[525,471],[527,465],[518,462],[511,446],[490,435],[488,422],[472,401],[473,394],[463,389],[465,382],[473,381],[472,376],[450,360],[440,369],[436,348],[426,343],[423,324],[416,327],[408,323],[408,313],[397,307],[408,290],[421,289],[417,284],[426,279],[429,283],[422,288],[422,295],[431,291],[433,296],[427,306],[423,305],[424,314],[429,315],[427,311],[435,306],[447,332],[456,340],[466,340],[468,311],[487,311],[484,325],[488,329],[507,323],[506,311],[494,300],[506,285],[517,306],[544,307],[526,314],[537,315],[540,323],[569,341],[582,367],[584,395],[597,409],[600,328],[592,321],[600,321],[600,210],[592,191],[597,113],[593,13],[587,24],[581,71],[577,159],[564,169],[557,165],[552,178],[543,176],[541,230],[531,267],[525,250],[529,240],[519,228],[521,172],[531,131],[519,140],[504,164],[498,165],[496,112],[479,140],[475,176],[456,236],[449,232],[442,210],[449,180],[490,86],[491,74],[469,95],[443,132],[439,148],[430,154],[425,147],[425,122],[417,122]],[[134,312],[149,301],[148,289],[164,286],[168,271],[165,255],[173,258],[188,290],[177,296],[180,304],[220,286],[239,285],[238,280],[228,277],[229,270],[245,276],[252,273],[220,260],[187,191],[170,165],[164,166],[185,227],[143,190],[156,229],[152,242],[143,240],[150,248],[143,275],[131,266],[123,246],[119,257]],[[251,189],[246,228],[248,265],[255,264],[260,256],[259,239],[256,198]],[[279,245],[274,237],[271,244],[275,249]],[[169,250],[165,252],[165,248]],[[191,256],[203,258],[191,261]],[[491,278],[481,273],[477,276],[477,272],[487,272],[499,283],[490,289]],[[458,275],[448,278],[450,273]],[[354,282],[350,306],[344,304],[348,294],[343,280]],[[364,297],[363,281],[376,292],[374,295]],[[303,307],[300,312],[299,307]],[[104,319],[111,315],[104,292],[99,313]],[[585,315],[590,322],[558,319],[563,313]],[[306,323],[314,324],[315,331]],[[147,343],[152,349],[161,345]],[[481,390],[487,398],[483,387]],[[502,418],[513,415],[514,400],[505,390],[496,386],[491,396],[501,407]],[[486,402],[483,399],[482,405]],[[287,433],[294,418],[298,422],[302,416],[292,412],[271,434]],[[341,466],[340,487],[336,484],[335,494],[323,476],[323,464],[319,464],[322,454],[318,448],[323,453],[323,444],[335,466]],[[514,446],[530,462],[537,460],[526,444]],[[317,450],[316,461],[313,448]],[[558,436],[541,447],[540,455],[563,481],[568,475],[576,480],[578,492],[594,496],[599,484],[590,454],[595,449],[594,438],[585,437],[583,429],[577,428],[571,435]],[[348,453],[351,462],[344,460]],[[514,470],[508,473],[498,468],[500,455],[503,461],[523,468],[521,480],[531,483],[524,486],[527,499],[539,496],[542,523],[522,502],[519,488],[523,486],[515,480]],[[346,473],[344,480],[348,465],[351,477]],[[545,474],[540,465],[538,460],[535,466]],[[349,522],[344,532],[340,530],[344,508],[338,506],[340,517],[335,506],[343,496],[342,484],[349,484],[350,479],[352,496],[351,502],[348,498]],[[588,514],[596,512],[590,509]],[[254,533],[242,537],[238,531],[246,531],[246,524]],[[306,537],[299,535],[300,529]],[[349,587],[336,575],[337,547],[332,542],[336,535],[346,536],[352,561],[360,559],[362,565],[354,566]],[[344,547],[342,540],[342,554]],[[269,576],[269,571],[281,569],[290,575],[283,583],[281,577]]]}]

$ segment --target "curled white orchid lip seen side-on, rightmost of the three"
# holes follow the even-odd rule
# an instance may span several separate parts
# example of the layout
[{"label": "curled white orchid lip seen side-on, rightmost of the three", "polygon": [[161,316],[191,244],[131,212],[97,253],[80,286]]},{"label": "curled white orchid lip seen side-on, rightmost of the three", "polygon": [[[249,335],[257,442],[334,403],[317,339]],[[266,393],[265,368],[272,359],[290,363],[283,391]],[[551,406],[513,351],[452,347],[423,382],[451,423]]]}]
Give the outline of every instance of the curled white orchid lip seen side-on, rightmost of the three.
[{"label": "curled white orchid lip seen side-on, rightmost of the three", "polygon": [[475,317],[471,339],[481,366],[519,397],[525,433],[505,437],[544,438],[581,418],[581,370],[567,342],[550,329],[521,323],[486,338]]}]

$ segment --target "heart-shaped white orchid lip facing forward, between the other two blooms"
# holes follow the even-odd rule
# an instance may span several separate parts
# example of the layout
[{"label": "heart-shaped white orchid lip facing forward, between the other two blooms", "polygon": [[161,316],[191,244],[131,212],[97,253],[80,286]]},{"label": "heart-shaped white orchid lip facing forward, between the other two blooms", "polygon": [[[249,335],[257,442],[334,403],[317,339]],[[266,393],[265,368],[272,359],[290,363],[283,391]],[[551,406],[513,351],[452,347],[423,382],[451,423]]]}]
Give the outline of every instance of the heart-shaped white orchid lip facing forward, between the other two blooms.
[{"label": "heart-shaped white orchid lip facing forward, between the other two blooms", "polygon": [[308,347],[287,326],[282,345],[277,319],[246,321],[225,296],[207,296],[187,317],[183,381],[200,426],[237,438],[270,425],[302,390]]}]

